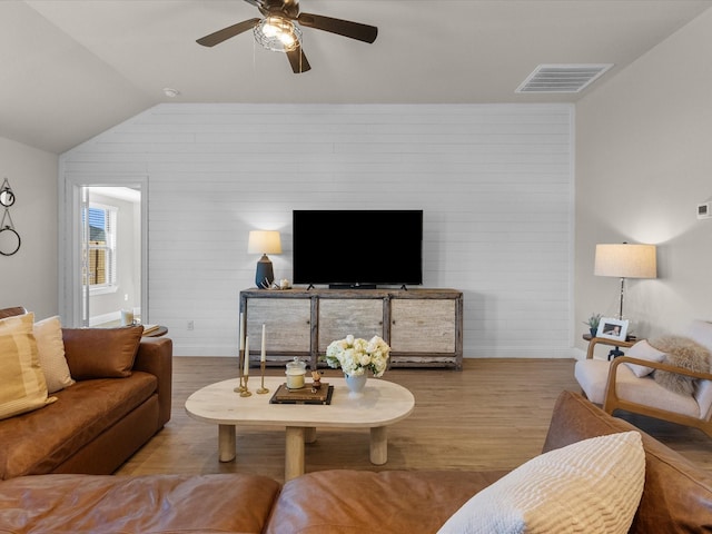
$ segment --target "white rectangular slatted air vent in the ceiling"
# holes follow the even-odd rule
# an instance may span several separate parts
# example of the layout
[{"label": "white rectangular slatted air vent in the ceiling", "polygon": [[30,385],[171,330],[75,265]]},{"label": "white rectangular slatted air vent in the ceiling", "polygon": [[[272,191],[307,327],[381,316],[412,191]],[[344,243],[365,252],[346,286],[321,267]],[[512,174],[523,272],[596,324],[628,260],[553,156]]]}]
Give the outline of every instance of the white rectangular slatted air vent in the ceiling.
[{"label": "white rectangular slatted air vent in the ceiling", "polygon": [[581,92],[613,63],[540,65],[515,92]]}]

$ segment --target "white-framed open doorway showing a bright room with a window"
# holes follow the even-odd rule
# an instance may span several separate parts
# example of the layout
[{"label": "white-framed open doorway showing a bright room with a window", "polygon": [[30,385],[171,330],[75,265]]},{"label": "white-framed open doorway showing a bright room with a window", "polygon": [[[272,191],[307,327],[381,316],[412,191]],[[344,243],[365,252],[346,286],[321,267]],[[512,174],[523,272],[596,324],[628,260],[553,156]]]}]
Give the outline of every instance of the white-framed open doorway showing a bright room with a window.
[{"label": "white-framed open doorway showing a bright room with a window", "polygon": [[148,322],[146,187],[146,178],[67,180],[60,218],[63,325]]}]

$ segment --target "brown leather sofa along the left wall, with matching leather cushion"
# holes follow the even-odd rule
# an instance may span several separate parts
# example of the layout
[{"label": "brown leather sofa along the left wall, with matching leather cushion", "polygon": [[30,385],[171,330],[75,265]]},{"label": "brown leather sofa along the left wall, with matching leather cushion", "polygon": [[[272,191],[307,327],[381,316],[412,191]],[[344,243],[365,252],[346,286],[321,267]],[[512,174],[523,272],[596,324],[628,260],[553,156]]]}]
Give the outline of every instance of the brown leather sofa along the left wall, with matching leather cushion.
[{"label": "brown leather sofa along the left wall, with matching leather cushion", "polygon": [[[127,333],[121,330],[62,329],[77,382],[53,393],[57,402],[0,421],[0,478],[110,474],[164,427],[170,418],[172,343],[140,338],[134,359],[142,328],[132,334],[130,348],[121,342]],[[120,354],[128,350],[130,355]],[[129,368],[120,369],[121,362],[129,362]],[[112,377],[116,367],[129,376]]]}]

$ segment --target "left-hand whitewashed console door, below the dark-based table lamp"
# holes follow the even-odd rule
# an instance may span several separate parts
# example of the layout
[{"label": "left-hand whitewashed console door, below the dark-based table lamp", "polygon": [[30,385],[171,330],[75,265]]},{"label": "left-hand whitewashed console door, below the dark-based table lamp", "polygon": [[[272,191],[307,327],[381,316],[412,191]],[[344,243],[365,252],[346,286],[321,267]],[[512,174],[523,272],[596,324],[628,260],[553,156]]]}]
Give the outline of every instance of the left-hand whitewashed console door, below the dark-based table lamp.
[{"label": "left-hand whitewashed console door, below the dark-based table lamp", "polygon": [[263,325],[267,332],[267,353],[309,353],[312,345],[312,304],[308,298],[247,299],[249,352],[261,349]]}]

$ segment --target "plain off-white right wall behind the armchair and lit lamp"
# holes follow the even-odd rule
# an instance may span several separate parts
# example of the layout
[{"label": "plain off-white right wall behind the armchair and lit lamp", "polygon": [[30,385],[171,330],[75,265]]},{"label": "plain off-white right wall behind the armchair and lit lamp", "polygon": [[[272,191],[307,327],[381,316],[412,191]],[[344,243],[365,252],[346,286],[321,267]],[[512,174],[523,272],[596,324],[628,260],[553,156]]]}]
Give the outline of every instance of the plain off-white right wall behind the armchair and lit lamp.
[{"label": "plain off-white right wall behind the armchair and lit lamp", "polygon": [[[657,245],[659,278],[631,280],[641,337],[712,319],[712,11],[576,106],[575,317],[615,314],[619,280],[593,276],[596,243]],[[578,336],[576,336],[578,337]],[[577,339],[583,347],[583,342]]]}]

